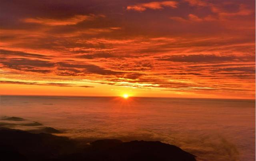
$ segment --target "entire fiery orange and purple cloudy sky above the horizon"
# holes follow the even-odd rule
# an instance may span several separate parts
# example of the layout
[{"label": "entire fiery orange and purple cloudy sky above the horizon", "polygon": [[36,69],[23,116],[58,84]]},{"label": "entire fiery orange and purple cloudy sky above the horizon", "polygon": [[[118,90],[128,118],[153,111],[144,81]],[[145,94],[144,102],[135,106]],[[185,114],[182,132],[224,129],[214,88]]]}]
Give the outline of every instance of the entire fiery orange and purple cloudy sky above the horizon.
[{"label": "entire fiery orange and purple cloudy sky above the horizon", "polygon": [[1,0],[0,94],[255,98],[254,0]]}]

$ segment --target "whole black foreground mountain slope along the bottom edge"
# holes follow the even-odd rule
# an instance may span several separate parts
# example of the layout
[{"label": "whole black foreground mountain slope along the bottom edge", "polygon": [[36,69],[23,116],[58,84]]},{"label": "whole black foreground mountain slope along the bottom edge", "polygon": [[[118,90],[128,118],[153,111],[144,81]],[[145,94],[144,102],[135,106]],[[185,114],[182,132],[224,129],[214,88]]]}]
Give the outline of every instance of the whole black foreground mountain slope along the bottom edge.
[{"label": "whole black foreground mountain slope along the bottom edge", "polygon": [[3,161],[195,161],[195,156],[160,141],[98,140],[90,145],[68,137],[0,128]]}]

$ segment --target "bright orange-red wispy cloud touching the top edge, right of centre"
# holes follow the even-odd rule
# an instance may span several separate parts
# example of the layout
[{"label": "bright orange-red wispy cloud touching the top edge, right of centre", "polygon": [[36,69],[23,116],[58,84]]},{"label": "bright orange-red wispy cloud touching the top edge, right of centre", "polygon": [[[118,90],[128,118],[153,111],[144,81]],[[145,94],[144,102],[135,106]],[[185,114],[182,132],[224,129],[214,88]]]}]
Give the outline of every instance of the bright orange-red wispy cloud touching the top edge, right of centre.
[{"label": "bright orange-red wispy cloud touching the top edge, right of centre", "polygon": [[127,10],[145,11],[146,9],[162,10],[164,7],[177,8],[178,2],[176,1],[162,1],[162,2],[149,2],[136,4],[134,6],[127,6]]}]

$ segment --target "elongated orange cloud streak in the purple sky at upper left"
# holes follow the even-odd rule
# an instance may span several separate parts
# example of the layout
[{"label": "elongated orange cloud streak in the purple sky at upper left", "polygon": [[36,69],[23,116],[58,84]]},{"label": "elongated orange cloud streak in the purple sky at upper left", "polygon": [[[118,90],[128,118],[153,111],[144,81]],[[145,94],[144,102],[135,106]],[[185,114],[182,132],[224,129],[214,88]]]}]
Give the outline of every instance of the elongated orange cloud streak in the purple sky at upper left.
[{"label": "elongated orange cloud streak in the purple sky at upper left", "polygon": [[75,15],[71,18],[65,18],[65,19],[26,18],[22,21],[26,23],[42,24],[42,25],[48,25],[48,26],[63,26],[63,25],[65,26],[65,25],[75,25],[85,20],[90,20],[91,18],[92,16]]}]

